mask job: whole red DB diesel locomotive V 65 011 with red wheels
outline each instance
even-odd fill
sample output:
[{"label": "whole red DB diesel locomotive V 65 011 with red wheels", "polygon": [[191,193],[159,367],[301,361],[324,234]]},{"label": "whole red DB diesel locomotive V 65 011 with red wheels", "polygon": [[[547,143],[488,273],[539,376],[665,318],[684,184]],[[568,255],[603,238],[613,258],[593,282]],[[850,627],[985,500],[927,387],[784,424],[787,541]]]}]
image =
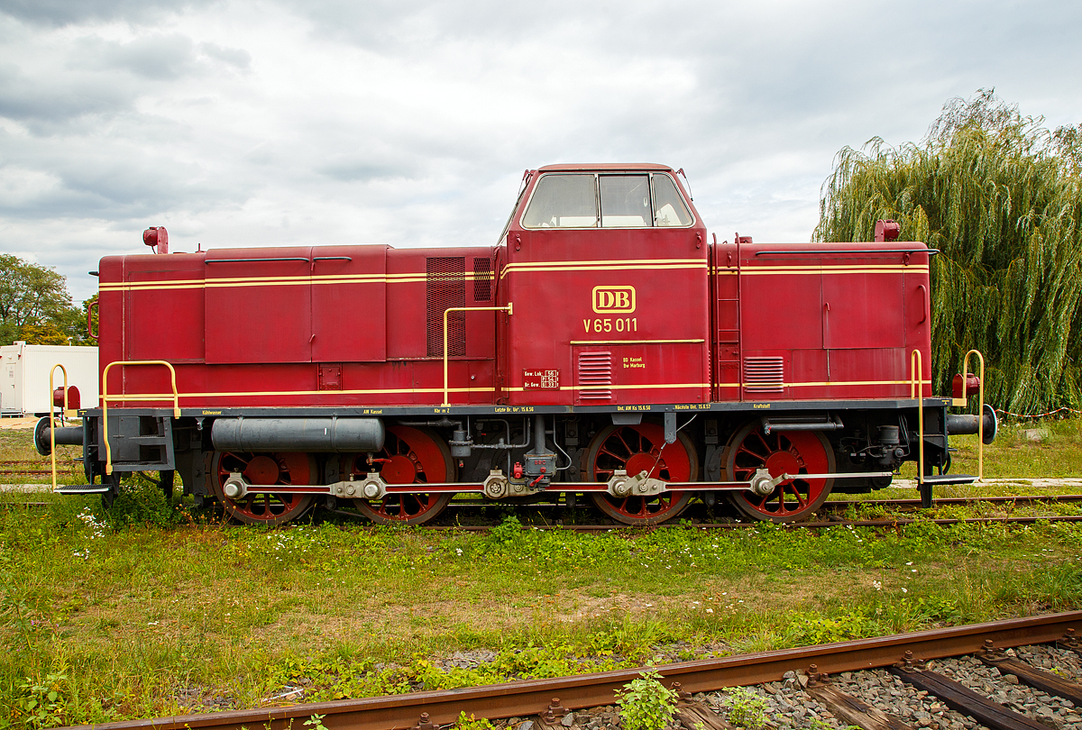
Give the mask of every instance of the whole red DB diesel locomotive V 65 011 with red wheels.
[{"label": "whole red DB diesel locomotive V 65 011 with red wheels", "polygon": [[981,424],[932,397],[934,251],[880,228],[720,243],[659,164],[527,171],[496,245],[170,254],[151,228],[155,254],[101,262],[102,400],[57,432],[89,485],[61,491],[157,470],[255,523],[317,500],[421,523],[470,493],[789,521],[923,452],[929,499],[973,479],[948,435]]}]

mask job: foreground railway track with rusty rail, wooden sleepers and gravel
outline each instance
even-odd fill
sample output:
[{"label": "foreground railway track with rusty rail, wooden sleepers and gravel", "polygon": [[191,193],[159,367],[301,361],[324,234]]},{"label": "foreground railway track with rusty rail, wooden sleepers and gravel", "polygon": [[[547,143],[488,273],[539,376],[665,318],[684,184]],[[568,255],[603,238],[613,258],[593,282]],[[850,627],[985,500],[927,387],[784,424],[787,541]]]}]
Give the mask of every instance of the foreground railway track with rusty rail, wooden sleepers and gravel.
[{"label": "foreground railway track with rusty rail, wooden sleepers and gravel", "polygon": [[[657,669],[662,683],[679,692],[677,717],[687,730],[727,727],[715,712],[724,705],[722,695],[710,693],[749,686],[760,696],[776,698],[774,706],[782,712],[799,717],[808,713],[817,717],[830,713],[841,727],[857,725],[867,730],[902,730],[979,724],[993,730],[1048,730],[1050,726],[1066,729],[1082,727],[1082,715],[1076,707],[1082,706],[1082,686],[1078,683],[1078,675],[1082,674],[1079,636],[1082,636],[1082,612],[1077,611],[683,662]],[[1034,645],[1042,646],[1013,651]],[[1074,672],[1060,669],[1054,674],[1034,665],[1040,662],[1032,658],[1050,654],[1073,666]],[[1067,656],[1073,660],[1068,662]],[[982,665],[991,668],[978,671]],[[604,726],[606,714],[611,724],[615,692],[638,673],[638,669],[620,669],[449,691],[161,717],[94,727],[96,730],[260,727],[288,730],[293,722],[318,715],[328,730],[434,730],[465,713],[490,720],[530,719],[539,730],[588,730]],[[1015,680],[1001,680],[1005,675]],[[896,715],[913,725],[897,716],[890,717],[876,706],[884,704],[874,699],[876,687],[885,689],[889,698],[887,708],[895,708]],[[1053,695],[1061,699],[1053,700]],[[914,711],[914,706],[924,709]],[[590,709],[596,707],[604,709],[601,713]],[[1054,709],[1050,715],[1047,709],[1041,708]],[[1043,725],[1038,718],[1048,724]]]}]

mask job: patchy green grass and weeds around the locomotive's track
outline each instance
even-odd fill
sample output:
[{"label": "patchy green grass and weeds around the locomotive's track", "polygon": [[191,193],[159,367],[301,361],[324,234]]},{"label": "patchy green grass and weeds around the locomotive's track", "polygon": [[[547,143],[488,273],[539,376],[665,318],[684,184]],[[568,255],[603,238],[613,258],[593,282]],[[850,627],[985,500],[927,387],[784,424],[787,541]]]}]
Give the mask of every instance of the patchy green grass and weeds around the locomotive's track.
[{"label": "patchy green grass and weeds around the locomotive's track", "polygon": [[[1003,439],[1004,451],[1067,469],[1077,456],[1058,452],[1078,450],[1079,428],[1051,428],[1041,443]],[[1076,523],[263,530],[150,488],[109,513],[92,497],[38,499],[0,508],[0,727],[452,688],[1082,607]]]}]

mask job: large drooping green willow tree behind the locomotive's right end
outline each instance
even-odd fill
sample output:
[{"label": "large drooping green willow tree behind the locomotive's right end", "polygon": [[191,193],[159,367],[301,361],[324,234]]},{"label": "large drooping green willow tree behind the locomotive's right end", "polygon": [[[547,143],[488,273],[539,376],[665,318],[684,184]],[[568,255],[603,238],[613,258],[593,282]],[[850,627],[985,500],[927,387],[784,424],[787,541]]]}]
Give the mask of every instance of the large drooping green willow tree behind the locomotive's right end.
[{"label": "large drooping green willow tree behind the locomotive's right end", "polygon": [[901,240],[938,249],[934,387],[977,348],[986,399],[1017,413],[1082,406],[1082,125],[1043,122],[981,90],[948,102],[919,144],[846,147],[815,231],[867,241],[893,218]]}]

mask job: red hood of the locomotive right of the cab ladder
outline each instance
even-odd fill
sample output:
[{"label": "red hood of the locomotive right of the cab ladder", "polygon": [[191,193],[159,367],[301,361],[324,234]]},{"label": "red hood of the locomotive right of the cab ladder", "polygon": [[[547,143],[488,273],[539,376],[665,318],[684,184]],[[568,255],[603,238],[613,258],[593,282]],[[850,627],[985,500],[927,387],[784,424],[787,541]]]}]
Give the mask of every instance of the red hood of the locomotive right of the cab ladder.
[{"label": "red hood of the locomotive right of the cab ladder", "polygon": [[[814,247],[822,254],[808,244],[739,248],[745,399],[908,398],[914,348],[931,379],[928,254],[898,252],[923,243]],[[717,277],[734,278],[731,268]],[[749,388],[749,373],[771,359],[781,364],[780,388]]]}]

